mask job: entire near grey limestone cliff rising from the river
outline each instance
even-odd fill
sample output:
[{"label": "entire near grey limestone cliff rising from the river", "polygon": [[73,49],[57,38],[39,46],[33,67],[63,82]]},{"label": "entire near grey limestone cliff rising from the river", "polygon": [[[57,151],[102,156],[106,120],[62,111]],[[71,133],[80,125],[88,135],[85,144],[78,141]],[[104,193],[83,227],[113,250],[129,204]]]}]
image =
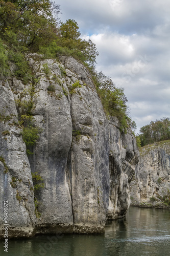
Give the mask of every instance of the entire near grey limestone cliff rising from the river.
[{"label": "entire near grey limestone cliff rising from the river", "polygon": [[[34,84],[16,78],[0,84],[1,205],[8,200],[9,237],[104,232],[106,219],[124,217],[130,205],[135,138],[106,117],[90,73],[77,60],[28,58]],[[18,116],[30,104],[40,137],[27,156]],[[31,172],[44,188],[32,189]],[[0,218],[3,237],[3,211]]]}]

